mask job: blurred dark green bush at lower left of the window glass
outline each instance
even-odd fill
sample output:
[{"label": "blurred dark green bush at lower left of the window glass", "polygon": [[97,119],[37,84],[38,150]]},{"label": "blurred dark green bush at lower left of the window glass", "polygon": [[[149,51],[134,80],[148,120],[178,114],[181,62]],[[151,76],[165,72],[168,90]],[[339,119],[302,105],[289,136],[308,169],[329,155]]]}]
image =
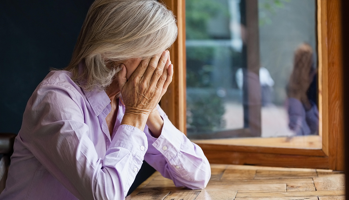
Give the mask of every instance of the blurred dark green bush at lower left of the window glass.
[{"label": "blurred dark green bush at lower left of the window glass", "polygon": [[221,127],[225,112],[222,99],[215,94],[187,98],[188,132],[205,134]]}]

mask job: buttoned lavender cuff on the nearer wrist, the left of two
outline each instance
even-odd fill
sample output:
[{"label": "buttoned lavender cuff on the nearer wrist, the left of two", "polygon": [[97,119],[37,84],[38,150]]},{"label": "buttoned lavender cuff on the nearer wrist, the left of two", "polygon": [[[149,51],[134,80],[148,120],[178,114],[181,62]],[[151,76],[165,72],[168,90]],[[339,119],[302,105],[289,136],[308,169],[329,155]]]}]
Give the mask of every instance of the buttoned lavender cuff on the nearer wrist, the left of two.
[{"label": "buttoned lavender cuff on the nearer wrist, the left of two", "polygon": [[140,129],[130,125],[120,125],[109,148],[121,147],[144,160],[148,149],[147,136]]}]

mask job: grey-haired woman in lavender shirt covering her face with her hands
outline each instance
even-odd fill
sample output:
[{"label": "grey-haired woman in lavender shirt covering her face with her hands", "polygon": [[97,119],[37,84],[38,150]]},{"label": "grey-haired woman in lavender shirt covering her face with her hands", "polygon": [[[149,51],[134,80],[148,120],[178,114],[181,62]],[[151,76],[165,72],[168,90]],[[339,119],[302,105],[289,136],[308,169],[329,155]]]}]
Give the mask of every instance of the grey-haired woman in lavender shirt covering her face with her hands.
[{"label": "grey-haired woman in lavender shirt covering her face with her hands", "polygon": [[124,199],[143,160],[202,189],[202,150],[157,105],[172,80],[171,11],[155,0],[96,0],[65,71],[30,97],[0,199]]}]

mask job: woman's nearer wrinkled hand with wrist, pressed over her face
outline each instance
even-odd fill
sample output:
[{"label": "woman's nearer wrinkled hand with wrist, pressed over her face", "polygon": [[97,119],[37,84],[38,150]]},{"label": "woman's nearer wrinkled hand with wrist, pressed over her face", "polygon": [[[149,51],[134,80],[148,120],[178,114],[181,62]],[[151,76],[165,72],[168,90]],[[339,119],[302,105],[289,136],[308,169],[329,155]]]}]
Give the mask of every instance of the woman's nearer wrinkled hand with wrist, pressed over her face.
[{"label": "woman's nearer wrinkled hand with wrist, pressed over her face", "polygon": [[121,124],[132,125],[143,130],[149,114],[156,109],[159,99],[171,82],[172,74],[169,51],[142,60],[129,80],[126,79],[126,67],[123,65],[117,75],[126,107]]}]

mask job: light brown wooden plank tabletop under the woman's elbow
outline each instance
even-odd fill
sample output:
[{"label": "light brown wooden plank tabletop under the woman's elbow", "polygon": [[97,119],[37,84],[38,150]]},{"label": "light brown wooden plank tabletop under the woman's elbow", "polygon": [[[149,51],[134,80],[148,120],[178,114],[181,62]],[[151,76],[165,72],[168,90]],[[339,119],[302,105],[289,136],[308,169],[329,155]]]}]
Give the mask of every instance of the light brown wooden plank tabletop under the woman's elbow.
[{"label": "light brown wooden plank tabletop under the woman's elbow", "polygon": [[211,164],[203,190],[175,187],[158,172],[127,200],[344,200],[344,174],[321,169]]}]

